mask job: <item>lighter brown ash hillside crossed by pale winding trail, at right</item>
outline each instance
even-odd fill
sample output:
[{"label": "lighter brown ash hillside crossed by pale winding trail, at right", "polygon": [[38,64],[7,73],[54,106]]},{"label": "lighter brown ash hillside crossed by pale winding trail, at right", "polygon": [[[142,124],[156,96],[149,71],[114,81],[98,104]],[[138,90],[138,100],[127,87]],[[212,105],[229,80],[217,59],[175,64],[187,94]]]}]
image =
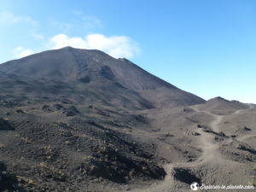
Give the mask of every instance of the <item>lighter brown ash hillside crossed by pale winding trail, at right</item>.
[{"label": "lighter brown ash hillside crossed by pale winding trail, at right", "polygon": [[191,191],[193,182],[255,190],[255,105],[217,97],[200,105],[150,111],[142,114],[154,119],[155,132],[142,135],[155,139],[156,155],[166,160],[167,175],[162,182],[131,191]]}]

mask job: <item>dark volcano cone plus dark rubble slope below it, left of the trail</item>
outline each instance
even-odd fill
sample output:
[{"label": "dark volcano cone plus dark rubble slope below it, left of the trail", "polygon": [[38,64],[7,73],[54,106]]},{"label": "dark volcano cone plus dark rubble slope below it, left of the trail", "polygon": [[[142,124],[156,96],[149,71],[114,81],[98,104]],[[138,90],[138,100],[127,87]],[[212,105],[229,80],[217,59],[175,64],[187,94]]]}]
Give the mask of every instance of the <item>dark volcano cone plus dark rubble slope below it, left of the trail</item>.
[{"label": "dark volcano cone plus dark rubble slope below it, left of the trail", "polygon": [[203,102],[99,50],[67,47],[6,62],[0,191],[120,191],[162,179],[157,138],[138,137],[153,129],[140,113]]}]

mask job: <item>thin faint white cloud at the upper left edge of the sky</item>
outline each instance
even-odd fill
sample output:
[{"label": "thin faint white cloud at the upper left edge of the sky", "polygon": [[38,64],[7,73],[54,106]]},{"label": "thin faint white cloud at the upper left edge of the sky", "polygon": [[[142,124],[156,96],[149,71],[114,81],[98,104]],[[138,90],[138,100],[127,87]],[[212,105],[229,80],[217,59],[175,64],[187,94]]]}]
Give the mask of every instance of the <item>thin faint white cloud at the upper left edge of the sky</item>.
[{"label": "thin faint white cloud at the upper left edge of the sky", "polygon": [[0,12],[0,24],[9,25],[9,24],[16,24],[19,22],[26,22],[33,26],[38,24],[36,20],[32,20],[28,16],[17,16],[9,11]]}]

